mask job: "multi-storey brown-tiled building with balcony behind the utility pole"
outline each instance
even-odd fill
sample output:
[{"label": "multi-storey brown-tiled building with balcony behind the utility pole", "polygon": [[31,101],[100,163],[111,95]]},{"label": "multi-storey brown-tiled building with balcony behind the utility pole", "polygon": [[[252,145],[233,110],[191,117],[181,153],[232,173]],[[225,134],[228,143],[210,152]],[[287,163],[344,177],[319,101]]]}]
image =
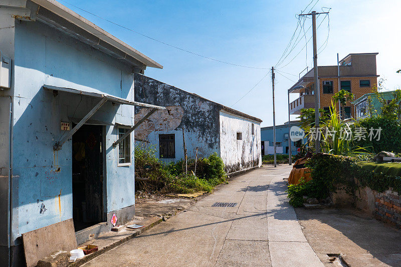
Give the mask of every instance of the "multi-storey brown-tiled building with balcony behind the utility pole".
[{"label": "multi-storey brown-tiled building with balcony behind the utility pole", "polygon": [[[329,110],[332,97],[341,89],[353,93],[354,99],[377,90],[377,54],[350,53],[339,61],[339,66],[318,66],[319,108]],[[289,89],[290,93],[299,93],[299,97],[290,103],[291,114],[299,114],[302,108],[315,107],[314,87],[314,68],[312,68]],[[339,103],[336,103],[336,107],[339,110]],[[355,108],[351,101],[341,106],[341,116],[355,117]]]}]

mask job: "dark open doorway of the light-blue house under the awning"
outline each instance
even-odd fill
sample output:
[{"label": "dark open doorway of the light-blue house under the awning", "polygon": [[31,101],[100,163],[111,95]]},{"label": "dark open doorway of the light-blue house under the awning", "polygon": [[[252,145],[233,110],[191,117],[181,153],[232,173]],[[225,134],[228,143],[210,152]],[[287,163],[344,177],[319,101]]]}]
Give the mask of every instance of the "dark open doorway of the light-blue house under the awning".
[{"label": "dark open doorway of the light-blue house under the awning", "polygon": [[103,126],[82,125],[72,136],[75,230],[103,220]]}]

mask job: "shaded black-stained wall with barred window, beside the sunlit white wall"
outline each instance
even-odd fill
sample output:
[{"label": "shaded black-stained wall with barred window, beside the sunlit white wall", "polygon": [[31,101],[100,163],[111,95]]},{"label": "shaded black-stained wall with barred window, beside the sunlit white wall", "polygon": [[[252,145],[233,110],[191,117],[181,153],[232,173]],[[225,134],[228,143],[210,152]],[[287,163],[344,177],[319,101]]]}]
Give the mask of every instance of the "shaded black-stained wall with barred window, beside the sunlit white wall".
[{"label": "shaded black-stained wall with barred window, beside the sunlit white wall", "polygon": [[[220,153],[220,105],[217,103],[141,74],[135,74],[135,100],[168,106],[169,111],[156,111],[135,129],[136,138],[155,145],[157,156],[159,134],[175,134],[175,158],[164,158],[164,161],[184,158],[182,128],[188,157],[195,157],[196,147],[200,157]],[[135,120],[146,112],[136,107]]]}]

